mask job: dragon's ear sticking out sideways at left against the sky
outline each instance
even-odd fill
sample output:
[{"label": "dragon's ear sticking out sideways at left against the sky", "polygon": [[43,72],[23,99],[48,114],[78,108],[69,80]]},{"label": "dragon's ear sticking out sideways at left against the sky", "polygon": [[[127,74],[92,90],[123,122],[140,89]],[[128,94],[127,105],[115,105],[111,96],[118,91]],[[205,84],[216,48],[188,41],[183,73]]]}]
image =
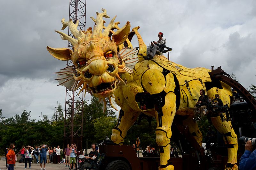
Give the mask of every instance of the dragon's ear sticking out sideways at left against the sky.
[{"label": "dragon's ear sticking out sideways at left against the sky", "polygon": [[46,49],[53,57],[63,61],[70,60],[73,54],[73,51],[69,48],[51,48],[47,46]]}]

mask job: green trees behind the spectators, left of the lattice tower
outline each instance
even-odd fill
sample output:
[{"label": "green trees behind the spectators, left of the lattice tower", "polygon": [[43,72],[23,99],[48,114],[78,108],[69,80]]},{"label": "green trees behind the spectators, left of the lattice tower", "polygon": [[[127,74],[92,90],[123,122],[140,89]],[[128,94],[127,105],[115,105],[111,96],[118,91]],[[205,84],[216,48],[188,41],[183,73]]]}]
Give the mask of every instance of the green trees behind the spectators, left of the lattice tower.
[{"label": "green trees behind the spectators, left of the lattice tower", "polygon": [[[0,148],[7,147],[10,143],[15,143],[16,151],[22,145],[48,144],[57,146],[63,143],[63,122],[49,124],[47,116],[44,115],[44,122],[34,122],[30,120],[30,113],[23,111],[21,116],[16,114],[0,123]],[[0,149],[0,153],[3,149]]]}]

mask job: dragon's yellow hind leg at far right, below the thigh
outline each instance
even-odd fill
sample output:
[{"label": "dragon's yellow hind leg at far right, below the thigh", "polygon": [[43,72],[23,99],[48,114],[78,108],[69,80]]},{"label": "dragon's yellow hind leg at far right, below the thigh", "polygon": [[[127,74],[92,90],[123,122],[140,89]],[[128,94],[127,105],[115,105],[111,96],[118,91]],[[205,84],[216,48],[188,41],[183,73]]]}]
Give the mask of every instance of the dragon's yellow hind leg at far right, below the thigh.
[{"label": "dragon's yellow hind leg at far right, below the thigh", "polygon": [[231,122],[222,122],[220,116],[212,117],[213,126],[223,134],[225,144],[228,146],[228,162],[226,170],[237,170],[236,153],[238,149],[237,136],[232,128]]}]

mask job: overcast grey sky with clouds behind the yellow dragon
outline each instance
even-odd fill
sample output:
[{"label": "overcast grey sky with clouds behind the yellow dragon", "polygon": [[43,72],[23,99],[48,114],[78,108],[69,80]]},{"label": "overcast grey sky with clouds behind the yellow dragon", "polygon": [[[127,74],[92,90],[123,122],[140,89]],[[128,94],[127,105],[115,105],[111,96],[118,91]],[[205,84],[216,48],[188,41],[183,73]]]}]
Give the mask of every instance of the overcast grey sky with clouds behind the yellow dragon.
[{"label": "overcast grey sky with clouds behind the yellow dragon", "polygon": [[[221,68],[236,74],[248,88],[256,84],[256,1],[254,0],[87,0],[86,27],[90,17],[107,10],[109,19],[122,27],[130,21],[146,44],[164,33],[173,62],[186,67]],[[67,47],[54,30],[61,18],[68,20],[68,0],[0,1],[0,108],[11,117],[24,109],[32,118],[51,118],[57,101],[65,103],[65,88],[57,86],[53,72],[66,62],[53,58],[46,46]],[[67,33],[67,30],[63,32]],[[136,46],[137,44],[135,44]],[[90,98],[86,94],[86,98]]]}]

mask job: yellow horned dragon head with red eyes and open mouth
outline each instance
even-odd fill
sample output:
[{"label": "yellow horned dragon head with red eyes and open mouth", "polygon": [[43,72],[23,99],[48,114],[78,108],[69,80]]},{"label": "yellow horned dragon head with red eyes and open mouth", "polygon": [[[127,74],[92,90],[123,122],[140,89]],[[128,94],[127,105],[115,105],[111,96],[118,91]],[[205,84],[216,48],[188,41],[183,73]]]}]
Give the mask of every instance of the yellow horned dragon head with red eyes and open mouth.
[{"label": "yellow horned dragon head with red eyes and open mouth", "polygon": [[[47,50],[53,57],[64,61],[71,60],[73,63],[73,66],[56,73],[59,76],[56,80],[60,85],[66,86],[69,90],[82,87],[80,92],[86,90],[100,100],[103,99],[105,105],[105,98],[108,98],[111,106],[116,109],[111,98],[114,97],[113,92],[117,84],[122,81],[119,75],[132,73],[132,69],[125,66],[125,61],[131,59],[133,62],[138,61],[138,50],[132,49],[128,40],[129,21],[124,27],[119,28],[117,26],[119,22],[114,23],[115,16],[105,27],[103,17],[109,18],[109,16],[106,10],[102,9],[102,11],[102,13],[97,12],[96,19],[91,17],[95,22],[93,30],[89,27],[87,31],[78,31],[79,21],[74,24],[71,19],[65,22],[63,18],[61,20],[62,30],[68,26],[76,39],[60,31],[56,32],[63,40],[68,40],[73,45],[73,50],[48,46]],[[114,29],[117,31],[114,32]]]}]

